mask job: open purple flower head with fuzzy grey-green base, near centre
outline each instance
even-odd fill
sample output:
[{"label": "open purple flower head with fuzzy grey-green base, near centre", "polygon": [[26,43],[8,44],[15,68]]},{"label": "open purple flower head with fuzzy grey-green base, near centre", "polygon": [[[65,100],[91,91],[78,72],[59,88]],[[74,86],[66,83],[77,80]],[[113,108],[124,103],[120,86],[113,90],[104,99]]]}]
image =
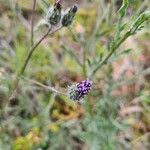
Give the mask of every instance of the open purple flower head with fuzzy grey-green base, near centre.
[{"label": "open purple flower head with fuzzy grey-green base, near centre", "polygon": [[68,88],[68,97],[71,100],[79,101],[84,98],[91,90],[92,82],[90,80],[84,80],[80,83],[71,85]]}]

